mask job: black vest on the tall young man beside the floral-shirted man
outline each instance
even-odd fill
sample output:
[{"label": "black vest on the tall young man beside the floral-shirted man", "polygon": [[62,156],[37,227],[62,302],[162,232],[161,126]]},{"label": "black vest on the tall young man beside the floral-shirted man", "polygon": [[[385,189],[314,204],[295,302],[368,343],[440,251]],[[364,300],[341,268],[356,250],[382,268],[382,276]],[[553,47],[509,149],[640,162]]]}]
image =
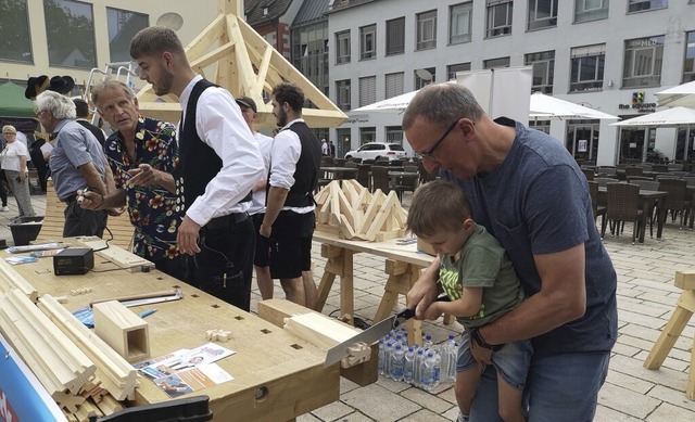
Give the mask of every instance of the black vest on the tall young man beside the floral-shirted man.
[{"label": "black vest on the tall young man beside the floral-shirted man", "polygon": [[[217,85],[201,79],[191,91],[186,104],[186,119],[181,113],[182,127],[178,133],[179,165],[174,170],[177,210],[186,213],[198,196],[205,193],[205,187],[222,169],[222,158],[215,150],[203,142],[195,129],[195,114],[200,95],[210,87]],[[251,192],[240,202],[251,201]],[[180,208],[179,208],[180,207]]]}]

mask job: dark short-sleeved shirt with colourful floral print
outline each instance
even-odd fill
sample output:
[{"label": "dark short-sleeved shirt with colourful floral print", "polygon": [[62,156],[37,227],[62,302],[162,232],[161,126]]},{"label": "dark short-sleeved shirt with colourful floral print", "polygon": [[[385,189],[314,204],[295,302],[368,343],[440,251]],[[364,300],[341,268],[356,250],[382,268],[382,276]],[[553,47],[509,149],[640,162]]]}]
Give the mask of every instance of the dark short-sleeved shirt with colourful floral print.
[{"label": "dark short-sleeved shirt with colourful floral print", "polygon": [[134,253],[150,260],[178,256],[176,230],[181,216],[176,213],[176,195],[159,184],[129,186],[128,170],[140,164],[172,174],[178,166],[176,127],[140,116],[135,132],[135,161],[126,152],[119,131],[104,143],[116,188],[126,194],[130,222],[135,226]]}]

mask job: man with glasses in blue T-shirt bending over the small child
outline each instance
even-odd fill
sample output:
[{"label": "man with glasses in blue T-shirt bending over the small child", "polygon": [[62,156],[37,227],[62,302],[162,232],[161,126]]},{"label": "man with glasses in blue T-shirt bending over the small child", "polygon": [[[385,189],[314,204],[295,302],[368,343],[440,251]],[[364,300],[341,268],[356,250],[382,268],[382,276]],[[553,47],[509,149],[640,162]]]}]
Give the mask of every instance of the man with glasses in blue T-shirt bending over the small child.
[{"label": "man with glasses in blue T-shirt bending over the small child", "polygon": [[[469,90],[430,85],[403,116],[408,142],[432,172],[456,182],[473,219],[506,250],[529,298],[480,329],[473,356],[533,343],[528,419],[591,421],[617,337],[617,276],[593,218],[586,178],[563,144],[508,118],[492,120]],[[437,295],[435,259],[408,292],[422,316]],[[471,421],[498,420],[488,373]]]}]

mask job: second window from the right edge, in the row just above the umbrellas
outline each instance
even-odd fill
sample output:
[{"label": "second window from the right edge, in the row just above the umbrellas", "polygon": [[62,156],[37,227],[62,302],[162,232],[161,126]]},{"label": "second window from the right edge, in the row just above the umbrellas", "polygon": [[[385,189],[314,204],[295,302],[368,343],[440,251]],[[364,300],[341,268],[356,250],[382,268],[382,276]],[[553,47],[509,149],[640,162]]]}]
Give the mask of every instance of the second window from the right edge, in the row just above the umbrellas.
[{"label": "second window from the right edge, in the row just above the umbrellas", "polygon": [[658,87],[661,85],[664,36],[626,41],[622,88]]}]

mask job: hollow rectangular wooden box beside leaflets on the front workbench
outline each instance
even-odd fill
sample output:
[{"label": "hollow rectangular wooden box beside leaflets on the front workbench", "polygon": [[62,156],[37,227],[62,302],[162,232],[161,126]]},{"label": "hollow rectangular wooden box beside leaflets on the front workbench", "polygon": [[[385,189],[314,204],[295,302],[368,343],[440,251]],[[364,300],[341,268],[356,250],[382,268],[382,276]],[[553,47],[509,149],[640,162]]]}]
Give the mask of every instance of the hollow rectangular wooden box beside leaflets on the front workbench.
[{"label": "hollow rectangular wooden box beside leaflets on the front workbench", "polygon": [[129,362],[150,357],[148,323],[117,300],[94,304],[94,332]]}]

